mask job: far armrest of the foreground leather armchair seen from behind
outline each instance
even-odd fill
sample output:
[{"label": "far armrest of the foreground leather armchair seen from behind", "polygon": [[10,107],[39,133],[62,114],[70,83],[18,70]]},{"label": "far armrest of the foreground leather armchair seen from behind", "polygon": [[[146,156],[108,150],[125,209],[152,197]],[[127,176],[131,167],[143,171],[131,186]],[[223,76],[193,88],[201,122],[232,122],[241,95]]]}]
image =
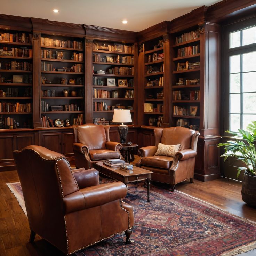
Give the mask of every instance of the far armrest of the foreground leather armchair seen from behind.
[{"label": "far armrest of the foreground leather armchair seen from behind", "polygon": [[72,173],[79,189],[99,185],[99,172],[94,168],[88,170],[85,168],[74,169]]}]

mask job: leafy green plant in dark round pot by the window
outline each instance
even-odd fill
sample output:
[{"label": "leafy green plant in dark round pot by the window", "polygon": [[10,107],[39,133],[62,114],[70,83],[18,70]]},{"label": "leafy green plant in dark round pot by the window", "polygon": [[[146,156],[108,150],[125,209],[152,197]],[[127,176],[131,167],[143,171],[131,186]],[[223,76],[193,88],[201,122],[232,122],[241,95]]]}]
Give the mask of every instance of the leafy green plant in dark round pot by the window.
[{"label": "leafy green plant in dark round pot by the window", "polygon": [[245,170],[242,184],[242,199],[248,205],[256,206],[256,121],[251,122],[247,130],[238,129],[238,133],[227,131],[235,135],[233,141],[219,143],[218,147],[224,146],[225,153],[221,155],[224,161],[228,157],[236,157],[245,163],[238,168],[237,177]]}]

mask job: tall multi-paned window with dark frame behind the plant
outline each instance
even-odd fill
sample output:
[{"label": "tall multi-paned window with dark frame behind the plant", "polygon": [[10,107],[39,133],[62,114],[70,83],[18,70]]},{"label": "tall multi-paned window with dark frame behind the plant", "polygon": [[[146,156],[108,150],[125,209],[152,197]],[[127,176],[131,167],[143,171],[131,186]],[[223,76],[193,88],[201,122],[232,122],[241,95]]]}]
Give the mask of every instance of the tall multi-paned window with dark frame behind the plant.
[{"label": "tall multi-paned window with dark frame behind the plant", "polygon": [[245,25],[230,26],[225,37],[229,111],[224,128],[230,131],[245,129],[251,120],[256,121],[256,26]]}]

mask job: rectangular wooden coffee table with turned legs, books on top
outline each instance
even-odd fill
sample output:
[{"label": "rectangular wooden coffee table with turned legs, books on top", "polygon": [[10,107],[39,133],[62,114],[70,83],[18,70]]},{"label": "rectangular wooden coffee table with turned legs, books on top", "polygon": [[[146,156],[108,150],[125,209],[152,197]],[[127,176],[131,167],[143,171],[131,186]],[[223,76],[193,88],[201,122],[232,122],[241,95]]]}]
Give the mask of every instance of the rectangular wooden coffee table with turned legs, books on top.
[{"label": "rectangular wooden coffee table with turned legs, books on top", "polygon": [[94,167],[99,171],[99,173],[116,179],[117,181],[121,181],[125,183],[126,186],[130,182],[147,180],[147,201],[149,202],[149,187],[152,171],[142,169],[137,166],[134,166],[132,171],[126,171],[122,170],[120,167],[111,168],[107,165],[104,165],[103,162],[94,163]]}]

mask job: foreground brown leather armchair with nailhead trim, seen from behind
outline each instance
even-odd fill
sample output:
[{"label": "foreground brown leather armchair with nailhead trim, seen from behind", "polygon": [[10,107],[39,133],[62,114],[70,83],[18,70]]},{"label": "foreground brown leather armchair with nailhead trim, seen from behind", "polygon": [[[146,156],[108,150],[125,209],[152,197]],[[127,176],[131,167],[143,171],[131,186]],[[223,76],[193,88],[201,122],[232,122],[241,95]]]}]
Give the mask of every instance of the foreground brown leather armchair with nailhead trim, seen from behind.
[{"label": "foreground brown leather armchair with nailhead trim, seen from behind", "polygon": [[31,230],[70,255],[125,231],[130,243],[133,206],[122,182],[99,185],[95,169],[71,170],[59,153],[27,146],[13,151]]}]

